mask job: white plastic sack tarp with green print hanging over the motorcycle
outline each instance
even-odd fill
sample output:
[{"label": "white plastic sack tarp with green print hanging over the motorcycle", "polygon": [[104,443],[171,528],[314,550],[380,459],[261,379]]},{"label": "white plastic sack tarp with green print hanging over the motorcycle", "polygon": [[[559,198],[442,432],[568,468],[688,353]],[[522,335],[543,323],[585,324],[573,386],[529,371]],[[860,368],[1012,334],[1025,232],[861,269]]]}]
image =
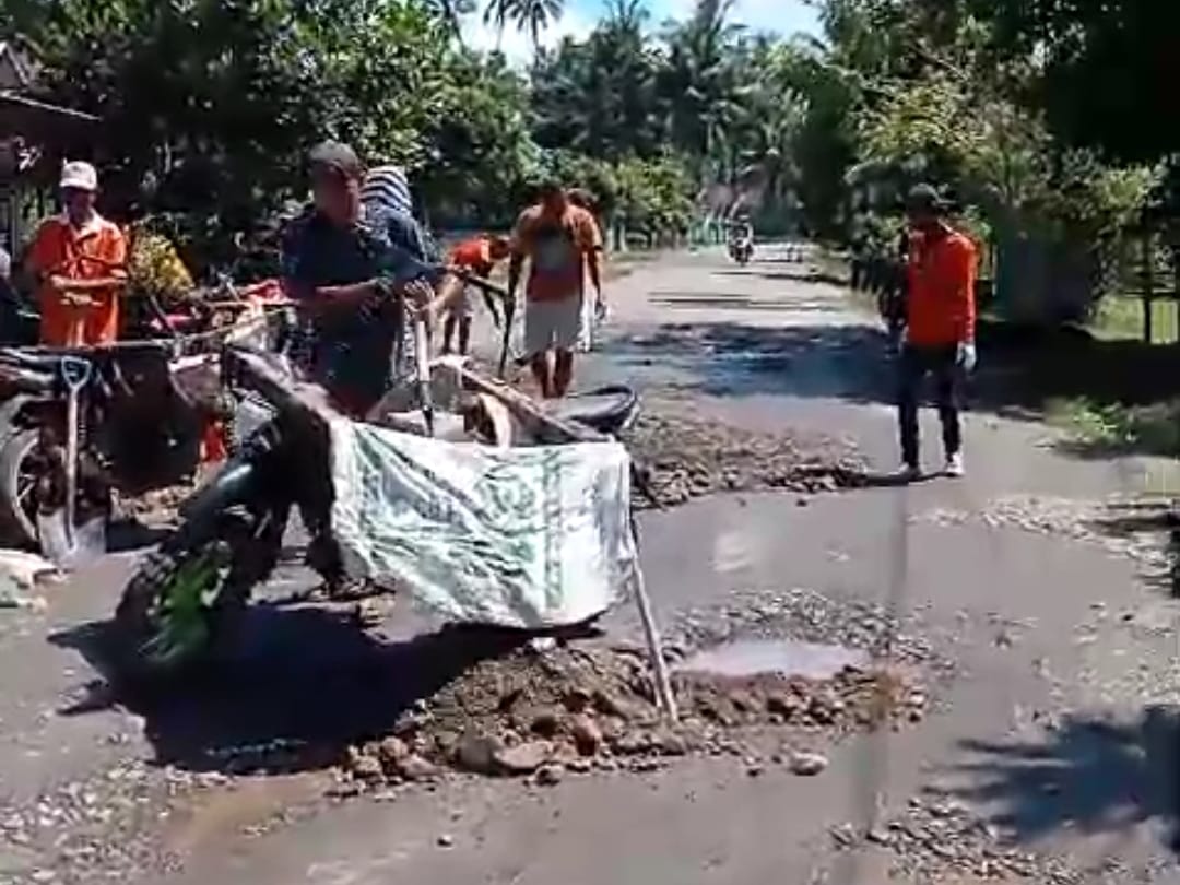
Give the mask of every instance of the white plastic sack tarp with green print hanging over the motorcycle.
[{"label": "white plastic sack tarp with green print hanging over the motorcycle", "polygon": [[638,576],[617,442],[503,450],[330,426],[352,577],[405,585],[451,621],[543,629],[602,614]]}]

